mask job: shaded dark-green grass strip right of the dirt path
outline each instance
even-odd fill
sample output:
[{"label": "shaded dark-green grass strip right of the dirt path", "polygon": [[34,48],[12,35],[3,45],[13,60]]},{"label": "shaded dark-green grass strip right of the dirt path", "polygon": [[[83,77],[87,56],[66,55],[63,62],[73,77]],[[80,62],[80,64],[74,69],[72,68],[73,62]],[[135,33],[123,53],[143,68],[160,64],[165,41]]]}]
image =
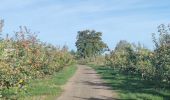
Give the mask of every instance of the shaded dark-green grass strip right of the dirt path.
[{"label": "shaded dark-green grass strip right of the dirt path", "polygon": [[107,84],[119,94],[118,100],[170,100],[170,86],[159,88],[153,81],[137,75],[125,75],[107,66],[92,66]]}]

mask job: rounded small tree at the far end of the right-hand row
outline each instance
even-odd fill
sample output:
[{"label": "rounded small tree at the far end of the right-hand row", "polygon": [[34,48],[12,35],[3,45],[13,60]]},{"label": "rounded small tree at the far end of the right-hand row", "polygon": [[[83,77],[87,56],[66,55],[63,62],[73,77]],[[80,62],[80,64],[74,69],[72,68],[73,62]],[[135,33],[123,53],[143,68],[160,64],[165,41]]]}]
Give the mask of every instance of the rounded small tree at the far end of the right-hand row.
[{"label": "rounded small tree at the far end of the right-hand row", "polygon": [[131,43],[121,40],[111,52],[111,64],[126,73],[135,72],[136,53]]}]

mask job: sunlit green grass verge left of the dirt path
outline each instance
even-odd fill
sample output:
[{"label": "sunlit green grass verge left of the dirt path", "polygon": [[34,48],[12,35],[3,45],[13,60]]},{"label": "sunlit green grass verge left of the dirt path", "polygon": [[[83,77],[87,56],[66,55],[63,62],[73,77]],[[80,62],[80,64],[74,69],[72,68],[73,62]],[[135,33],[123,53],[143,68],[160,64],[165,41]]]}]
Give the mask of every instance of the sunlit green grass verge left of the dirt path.
[{"label": "sunlit green grass verge left of the dirt path", "polygon": [[29,82],[25,91],[15,94],[15,88],[6,90],[10,98],[19,100],[55,100],[62,90],[62,86],[75,73],[76,66],[65,67],[62,71],[44,79],[36,79]]}]

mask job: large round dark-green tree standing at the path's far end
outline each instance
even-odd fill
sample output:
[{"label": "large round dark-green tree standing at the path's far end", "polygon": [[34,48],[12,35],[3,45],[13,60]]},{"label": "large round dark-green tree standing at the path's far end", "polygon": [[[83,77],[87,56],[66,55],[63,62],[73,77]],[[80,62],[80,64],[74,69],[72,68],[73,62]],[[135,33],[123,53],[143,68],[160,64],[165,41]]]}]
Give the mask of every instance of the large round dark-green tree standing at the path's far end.
[{"label": "large round dark-green tree standing at the path's far end", "polygon": [[107,45],[102,41],[102,33],[95,30],[79,31],[76,47],[80,58],[95,57],[102,54]]}]

